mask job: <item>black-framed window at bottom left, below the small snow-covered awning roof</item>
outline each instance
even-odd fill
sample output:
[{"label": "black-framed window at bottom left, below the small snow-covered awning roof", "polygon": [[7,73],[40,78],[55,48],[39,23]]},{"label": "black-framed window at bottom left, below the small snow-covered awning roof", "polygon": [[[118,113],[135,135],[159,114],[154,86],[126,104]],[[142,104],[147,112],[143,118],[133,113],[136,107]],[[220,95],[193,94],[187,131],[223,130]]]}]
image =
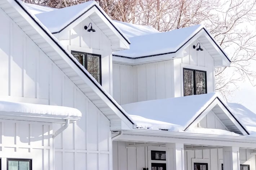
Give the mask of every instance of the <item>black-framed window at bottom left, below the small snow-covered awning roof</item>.
[{"label": "black-framed window at bottom left, below the small snow-covered awning roof", "polygon": [[8,158],[7,170],[32,170],[32,160]]}]

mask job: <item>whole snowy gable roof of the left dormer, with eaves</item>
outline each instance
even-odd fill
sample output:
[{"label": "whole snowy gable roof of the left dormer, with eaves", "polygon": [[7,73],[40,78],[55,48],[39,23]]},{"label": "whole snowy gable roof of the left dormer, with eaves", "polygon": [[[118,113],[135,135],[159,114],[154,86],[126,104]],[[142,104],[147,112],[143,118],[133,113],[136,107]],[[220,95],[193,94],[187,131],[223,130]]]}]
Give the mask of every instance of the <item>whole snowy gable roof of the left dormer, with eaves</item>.
[{"label": "whole snowy gable roof of the left dormer, with eaves", "polygon": [[123,49],[128,49],[129,44],[131,43],[124,33],[115,26],[115,23],[102,10],[96,1],[88,1],[66,8],[39,13],[36,14],[36,17],[49,29],[50,32],[52,32],[52,34],[57,34],[65,29],[75,27],[82,20],[89,17],[92,19],[92,22],[96,24],[107,37],[109,37],[112,43],[121,40],[125,44]]}]

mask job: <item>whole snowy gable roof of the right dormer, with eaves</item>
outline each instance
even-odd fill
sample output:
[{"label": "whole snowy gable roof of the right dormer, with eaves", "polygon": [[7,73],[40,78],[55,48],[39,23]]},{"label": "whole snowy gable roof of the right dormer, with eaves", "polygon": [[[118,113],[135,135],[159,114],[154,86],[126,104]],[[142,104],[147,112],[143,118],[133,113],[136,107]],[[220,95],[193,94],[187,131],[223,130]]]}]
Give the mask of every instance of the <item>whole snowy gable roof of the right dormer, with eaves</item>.
[{"label": "whole snowy gable roof of the right dormer, with eaves", "polygon": [[151,60],[155,62],[182,58],[183,55],[178,55],[178,52],[181,52],[197,39],[201,42],[200,45],[213,57],[215,66],[228,66],[230,64],[230,59],[226,53],[202,25],[131,37],[130,49],[113,52],[113,60],[123,61],[123,64],[138,65]]}]

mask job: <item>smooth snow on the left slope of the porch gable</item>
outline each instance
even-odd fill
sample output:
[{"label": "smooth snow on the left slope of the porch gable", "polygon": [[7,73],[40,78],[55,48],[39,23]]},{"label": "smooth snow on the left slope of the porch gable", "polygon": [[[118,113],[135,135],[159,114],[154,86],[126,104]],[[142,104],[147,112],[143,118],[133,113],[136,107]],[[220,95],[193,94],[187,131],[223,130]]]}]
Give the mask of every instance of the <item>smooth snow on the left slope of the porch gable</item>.
[{"label": "smooth snow on the left slope of the porch gable", "polygon": [[142,101],[121,106],[128,114],[187,127],[216,97],[216,93],[208,93]]}]

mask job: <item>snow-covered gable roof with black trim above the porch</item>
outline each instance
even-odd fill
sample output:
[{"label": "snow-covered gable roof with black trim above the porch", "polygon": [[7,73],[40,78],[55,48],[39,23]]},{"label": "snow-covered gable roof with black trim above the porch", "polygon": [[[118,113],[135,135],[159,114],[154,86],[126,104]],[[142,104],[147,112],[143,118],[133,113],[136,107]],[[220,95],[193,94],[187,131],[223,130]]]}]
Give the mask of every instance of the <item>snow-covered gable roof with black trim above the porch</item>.
[{"label": "snow-covered gable roof with black trim above the porch", "polygon": [[122,107],[128,114],[180,125],[185,131],[212,110],[231,132],[249,134],[217,93],[143,101]]}]

